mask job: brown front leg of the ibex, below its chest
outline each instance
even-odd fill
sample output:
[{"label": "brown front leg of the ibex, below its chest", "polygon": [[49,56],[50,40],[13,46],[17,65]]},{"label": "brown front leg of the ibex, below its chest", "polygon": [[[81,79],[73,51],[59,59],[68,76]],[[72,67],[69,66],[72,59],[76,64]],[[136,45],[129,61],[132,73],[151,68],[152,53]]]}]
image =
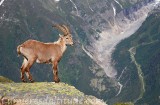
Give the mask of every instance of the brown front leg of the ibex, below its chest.
[{"label": "brown front leg of the ibex, below its chest", "polygon": [[58,78],[58,62],[54,62],[54,63],[53,63],[53,75],[54,75],[53,80],[54,80],[56,83],[59,83],[59,82],[60,82],[60,79]]}]

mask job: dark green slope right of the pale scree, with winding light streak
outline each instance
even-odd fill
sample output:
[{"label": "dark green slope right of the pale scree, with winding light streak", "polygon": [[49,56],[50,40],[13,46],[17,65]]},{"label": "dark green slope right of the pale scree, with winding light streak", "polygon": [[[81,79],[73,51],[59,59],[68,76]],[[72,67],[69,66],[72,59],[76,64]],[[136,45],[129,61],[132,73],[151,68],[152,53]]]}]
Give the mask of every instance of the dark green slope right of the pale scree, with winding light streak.
[{"label": "dark green slope right of the pale scree, with winding light streak", "polygon": [[[118,44],[113,53],[114,60],[118,62],[115,65],[117,70],[122,70],[122,68],[126,67],[122,76],[122,80],[126,81],[126,85],[134,87],[132,83],[127,81],[137,80],[135,87],[139,89],[134,88],[133,91],[140,91],[139,101],[134,100],[138,105],[159,105],[159,10],[155,9],[140,29],[130,38]],[[124,76],[126,73],[130,74],[130,76]],[[138,74],[138,77],[135,78],[136,74]],[[124,87],[122,91],[126,89],[127,87]],[[132,94],[133,91],[127,93]]]}]

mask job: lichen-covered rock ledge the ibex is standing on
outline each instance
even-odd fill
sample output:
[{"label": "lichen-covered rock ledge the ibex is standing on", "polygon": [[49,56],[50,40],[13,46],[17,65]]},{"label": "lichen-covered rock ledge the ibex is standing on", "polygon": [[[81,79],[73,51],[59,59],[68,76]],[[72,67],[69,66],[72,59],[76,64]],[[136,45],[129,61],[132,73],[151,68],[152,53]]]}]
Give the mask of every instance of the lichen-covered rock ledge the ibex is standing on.
[{"label": "lichen-covered rock ledge the ibex is standing on", "polygon": [[[2,105],[106,105],[65,83],[0,83]],[[8,104],[9,103],[9,104]]]}]

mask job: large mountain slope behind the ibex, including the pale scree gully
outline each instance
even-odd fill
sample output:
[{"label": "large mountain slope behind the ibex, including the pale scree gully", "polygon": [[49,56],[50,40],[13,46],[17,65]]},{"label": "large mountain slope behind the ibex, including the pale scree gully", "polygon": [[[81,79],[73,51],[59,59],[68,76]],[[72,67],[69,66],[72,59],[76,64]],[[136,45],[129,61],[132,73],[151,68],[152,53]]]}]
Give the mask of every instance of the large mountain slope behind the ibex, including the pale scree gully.
[{"label": "large mountain slope behind the ibex, including the pale scree gully", "polygon": [[[16,47],[28,39],[56,41],[59,32],[52,24],[68,24],[75,46],[68,47],[59,63],[61,81],[109,104],[135,101],[141,81],[133,70],[137,67],[125,65],[130,53],[124,62],[123,58],[115,62],[111,55],[121,40],[141,26],[155,4],[154,0],[4,0],[0,5],[0,75],[20,82],[22,57],[17,57]],[[31,73],[35,81],[53,78],[49,65],[34,64]]]}]

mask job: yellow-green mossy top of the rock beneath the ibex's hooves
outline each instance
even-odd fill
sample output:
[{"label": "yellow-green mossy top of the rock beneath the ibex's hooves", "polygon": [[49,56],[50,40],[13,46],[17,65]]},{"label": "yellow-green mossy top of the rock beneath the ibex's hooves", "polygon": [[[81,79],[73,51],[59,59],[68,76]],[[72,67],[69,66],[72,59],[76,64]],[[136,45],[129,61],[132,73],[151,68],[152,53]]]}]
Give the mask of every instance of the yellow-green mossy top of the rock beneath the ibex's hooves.
[{"label": "yellow-green mossy top of the rock beneath the ibex's hooves", "polygon": [[65,94],[68,96],[84,96],[84,94],[78,91],[73,86],[69,86],[65,83],[53,83],[53,82],[37,82],[37,83],[2,83],[0,84],[1,92],[8,94],[15,92],[17,94],[32,93],[32,94],[50,94],[58,95]]}]

